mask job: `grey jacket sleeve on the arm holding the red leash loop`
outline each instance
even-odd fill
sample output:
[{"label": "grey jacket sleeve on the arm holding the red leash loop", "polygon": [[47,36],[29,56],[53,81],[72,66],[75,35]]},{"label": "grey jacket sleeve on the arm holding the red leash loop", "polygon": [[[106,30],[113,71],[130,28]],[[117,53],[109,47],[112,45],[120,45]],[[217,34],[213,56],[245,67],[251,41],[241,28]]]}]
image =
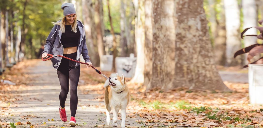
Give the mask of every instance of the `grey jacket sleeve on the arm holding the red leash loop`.
[{"label": "grey jacket sleeve on the arm holding the red leash loop", "polygon": [[55,39],[57,37],[57,25],[54,25],[54,27],[52,28],[52,30],[50,31],[46,43],[44,45],[44,51],[42,53],[50,53],[50,50],[53,49],[53,44],[55,42]]}]

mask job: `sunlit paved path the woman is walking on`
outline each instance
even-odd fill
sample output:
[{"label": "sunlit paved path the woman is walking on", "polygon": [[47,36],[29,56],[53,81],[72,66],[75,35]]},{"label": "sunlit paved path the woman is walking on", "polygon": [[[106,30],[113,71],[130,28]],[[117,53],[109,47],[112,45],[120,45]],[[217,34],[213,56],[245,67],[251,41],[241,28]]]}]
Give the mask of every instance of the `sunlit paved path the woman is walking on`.
[{"label": "sunlit paved path the woman is walking on", "polygon": [[[23,91],[14,92],[14,95],[22,100],[13,103],[13,105],[17,105],[17,107],[11,108],[13,110],[11,114],[14,116],[8,117],[4,122],[30,121],[31,124],[39,125],[39,127],[49,127],[51,125],[55,127],[69,127],[69,122],[64,123],[59,118],[58,107],[61,89],[57,72],[52,68],[50,61],[39,61],[36,66],[28,67],[25,74],[29,78],[29,80],[25,81],[28,86]],[[94,97],[97,95],[84,95],[78,89],[78,108],[76,114],[78,125],[76,127],[90,128],[97,127],[96,125],[103,127],[106,124],[104,102],[94,100]],[[65,103],[68,120],[70,120],[69,99],[70,92]],[[25,119],[22,119],[21,116],[24,116]],[[54,119],[54,121],[48,121],[48,119]],[[126,126],[141,126],[142,124],[137,124],[136,120],[138,119],[127,117]],[[46,122],[45,125],[44,122]],[[111,120],[110,126],[104,127],[112,127],[112,122]],[[118,121],[118,126],[120,126],[120,120]]]}]

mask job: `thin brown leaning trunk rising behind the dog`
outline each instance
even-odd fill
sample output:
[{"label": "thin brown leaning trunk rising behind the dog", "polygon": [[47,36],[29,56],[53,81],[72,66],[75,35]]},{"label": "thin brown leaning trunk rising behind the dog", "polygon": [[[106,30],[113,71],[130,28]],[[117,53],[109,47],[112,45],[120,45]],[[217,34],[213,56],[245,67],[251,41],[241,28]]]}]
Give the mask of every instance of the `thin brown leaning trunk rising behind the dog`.
[{"label": "thin brown leaning trunk rising behind the dog", "polygon": [[113,37],[113,62],[112,62],[112,72],[116,72],[116,68],[115,68],[115,58],[117,57],[117,43],[116,43],[116,38],[115,38],[115,34],[114,34],[114,29],[113,29],[113,25],[112,25],[112,17],[110,16],[110,2],[109,0],[107,0],[107,6],[108,6],[108,13],[109,13],[109,21],[110,21],[110,33],[112,34]]}]

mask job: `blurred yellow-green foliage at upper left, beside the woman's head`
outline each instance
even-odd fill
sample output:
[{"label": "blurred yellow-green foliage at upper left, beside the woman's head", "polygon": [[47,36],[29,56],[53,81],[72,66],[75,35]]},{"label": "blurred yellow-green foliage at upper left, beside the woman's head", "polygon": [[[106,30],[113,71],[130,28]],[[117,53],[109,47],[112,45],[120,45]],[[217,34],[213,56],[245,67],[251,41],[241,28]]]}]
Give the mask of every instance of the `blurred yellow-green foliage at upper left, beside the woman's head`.
[{"label": "blurred yellow-green foliage at upper left, beside the woman's head", "polygon": [[[39,48],[45,44],[45,40],[52,29],[51,22],[59,20],[63,16],[59,0],[0,0],[2,18],[8,11],[9,25],[12,24],[14,35],[25,28],[25,56],[36,58]],[[12,16],[13,15],[13,16]],[[12,53],[13,54],[13,53]]]}]

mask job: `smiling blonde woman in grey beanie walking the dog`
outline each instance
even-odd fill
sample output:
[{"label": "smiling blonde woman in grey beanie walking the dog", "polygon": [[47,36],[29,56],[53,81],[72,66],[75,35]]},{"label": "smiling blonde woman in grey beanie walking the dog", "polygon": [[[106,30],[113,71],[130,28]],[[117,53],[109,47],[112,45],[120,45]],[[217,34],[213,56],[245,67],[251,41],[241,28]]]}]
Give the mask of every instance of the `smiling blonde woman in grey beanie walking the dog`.
[{"label": "smiling blonde woman in grey beanie walking the dog", "polygon": [[[64,17],[62,20],[54,23],[54,27],[48,35],[42,57],[48,58],[47,54],[63,55],[65,57],[80,60],[82,54],[87,68],[92,66],[89,60],[88,49],[86,46],[86,37],[83,24],[77,21],[77,15],[72,3],[64,3],[63,9]],[[61,92],[59,94],[59,115],[63,122],[67,122],[67,115],[65,111],[65,101],[69,91],[70,81],[70,122],[72,127],[76,126],[75,114],[78,105],[77,87],[80,75],[80,64],[71,60],[54,57],[50,59],[53,67],[57,70]]]}]

